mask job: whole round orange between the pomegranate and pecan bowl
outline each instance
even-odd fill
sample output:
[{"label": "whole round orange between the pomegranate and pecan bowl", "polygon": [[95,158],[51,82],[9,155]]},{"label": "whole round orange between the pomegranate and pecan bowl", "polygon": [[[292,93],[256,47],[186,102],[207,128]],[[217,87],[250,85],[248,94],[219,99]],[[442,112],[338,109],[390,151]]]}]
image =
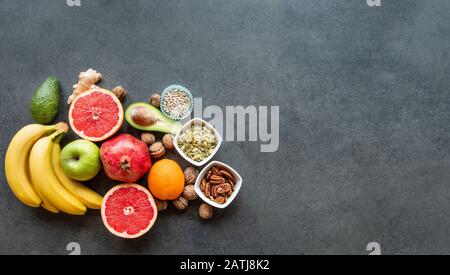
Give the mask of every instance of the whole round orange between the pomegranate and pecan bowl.
[{"label": "whole round orange between the pomegranate and pecan bowl", "polygon": [[173,160],[156,162],[148,175],[148,188],[160,200],[175,200],[184,189],[184,174]]}]

